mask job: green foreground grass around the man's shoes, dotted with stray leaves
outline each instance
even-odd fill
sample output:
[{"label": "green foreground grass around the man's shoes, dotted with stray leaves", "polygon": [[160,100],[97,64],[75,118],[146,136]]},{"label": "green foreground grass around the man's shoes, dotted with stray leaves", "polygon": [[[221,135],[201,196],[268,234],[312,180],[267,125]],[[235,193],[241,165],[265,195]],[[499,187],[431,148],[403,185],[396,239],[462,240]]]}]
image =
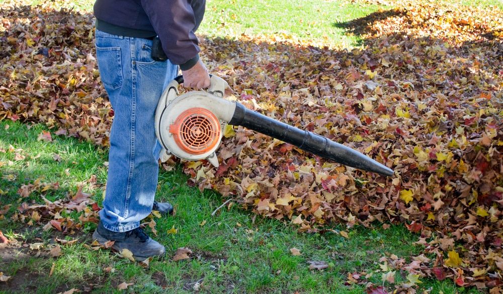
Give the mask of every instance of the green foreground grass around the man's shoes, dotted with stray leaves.
[{"label": "green foreground grass around the man's shoes, dotted with stray leaves", "polygon": [[[38,135],[46,130],[40,125],[3,121],[0,130],[3,130],[0,148],[6,150],[0,152],[3,164],[0,187],[4,191],[0,195],[0,207],[14,205],[5,219],[0,220],[2,231],[20,244],[44,242],[47,245],[53,243],[55,237],[64,238],[54,231],[43,232],[42,225],[27,226],[13,222],[10,217],[23,201],[43,203],[42,195],[51,200],[67,197],[67,193],[75,191],[78,184],[86,183],[93,174],[97,176],[97,183],[86,184],[84,191],[92,192],[92,197],[100,202],[106,181],[107,150],[54,135],[53,142],[37,141]],[[9,152],[11,145],[17,151]],[[25,159],[15,160],[16,153]],[[61,160],[55,161],[54,154]],[[58,181],[60,188],[19,199],[18,188],[37,178],[45,182]],[[409,256],[422,249],[413,245],[418,236],[399,225],[387,230],[379,224],[374,228],[355,227],[348,230],[349,238],[344,238],[334,233],[300,234],[290,224],[262,217],[255,219],[254,214],[237,205],[230,210],[224,208],[212,217],[211,213],[221,204],[218,193],[200,192],[186,185],[186,181],[187,177],[179,169],[160,173],[157,200],[174,204],[177,214],[155,219],[156,240],[166,246],[167,256],[152,260],[148,269],[113,252],[86,248],[84,244],[92,242],[93,225],[76,236],[66,236],[78,237],[80,241],[62,246],[63,254],[58,258],[36,257],[34,252],[21,247],[18,258],[0,259],[0,270],[13,276],[9,283],[0,284],[0,292],[55,293],[74,287],[109,293],[118,292],[117,285],[125,281],[133,283],[128,291],[134,293],[189,293],[194,292],[194,285],[199,281],[200,290],[205,293],[362,293],[364,286],[345,284],[348,273],[366,272],[371,275],[370,281],[380,284],[381,257],[395,254],[409,260]],[[75,219],[78,218],[75,216]],[[167,234],[173,226],[178,232]],[[334,225],[333,229],[346,228]],[[171,261],[179,247],[190,248],[193,258]],[[300,249],[302,255],[292,255],[290,248],[294,247]],[[325,261],[330,266],[322,271],[309,270],[308,261]],[[53,272],[49,276],[51,267]],[[397,273],[396,280],[405,281],[405,274]],[[452,281],[422,280],[421,289],[432,287],[433,292],[477,293],[473,289],[456,288]]]}]

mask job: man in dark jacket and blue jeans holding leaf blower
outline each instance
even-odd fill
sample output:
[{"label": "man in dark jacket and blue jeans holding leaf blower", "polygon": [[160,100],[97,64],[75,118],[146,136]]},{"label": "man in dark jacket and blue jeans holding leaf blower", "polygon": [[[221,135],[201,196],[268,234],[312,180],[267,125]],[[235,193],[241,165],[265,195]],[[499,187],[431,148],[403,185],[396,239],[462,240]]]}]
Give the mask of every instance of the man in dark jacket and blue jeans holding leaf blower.
[{"label": "man in dark jacket and blue jeans holding leaf blower", "polygon": [[[165,252],[139,228],[140,221],[152,207],[164,214],[173,211],[169,203],[154,203],[159,97],[179,66],[184,86],[210,85],[194,34],[204,10],[205,0],[97,0],[94,6],[98,67],[115,116],[106,196],[93,238],[101,244],[113,240],[115,250],[128,249],[139,261]],[[152,59],[155,36],[166,61]]]}]

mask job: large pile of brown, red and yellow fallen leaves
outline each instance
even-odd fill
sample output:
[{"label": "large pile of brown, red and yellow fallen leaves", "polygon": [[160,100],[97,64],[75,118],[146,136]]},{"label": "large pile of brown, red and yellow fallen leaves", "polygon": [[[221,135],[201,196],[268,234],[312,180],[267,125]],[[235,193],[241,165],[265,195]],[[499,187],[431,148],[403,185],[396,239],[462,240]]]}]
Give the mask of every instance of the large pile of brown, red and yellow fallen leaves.
[{"label": "large pile of brown, red and yellow fallen leaves", "polygon": [[[55,134],[107,145],[113,111],[93,57],[92,16],[53,6],[2,4],[0,119],[42,122]],[[285,35],[203,39],[211,71],[246,107],[358,149],[395,176],[227,126],[220,167],[183,162],[190,183],[302,231],[332,222],[404,223],[421,234],[428,257],[389,257],[385,265],[407,271],[409,284],[428,275],[499,291],[501,15],[497,8],[398,4],[343,24],[365,41],[353,50]]]}]

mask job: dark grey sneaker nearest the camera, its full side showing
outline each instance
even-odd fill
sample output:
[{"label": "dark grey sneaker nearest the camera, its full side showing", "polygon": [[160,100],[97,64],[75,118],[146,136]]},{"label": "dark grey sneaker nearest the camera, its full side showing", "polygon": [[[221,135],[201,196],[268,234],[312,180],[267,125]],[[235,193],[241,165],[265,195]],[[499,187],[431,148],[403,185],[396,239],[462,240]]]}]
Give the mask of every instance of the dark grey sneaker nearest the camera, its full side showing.
[{"label": "dark grey sneaker nearest the camera, its full side showing", "polygon": [[115,241],[112,249],[118,252],[128,249],[133,253],[136,261],[143,261],[152,256],[162,256],[166,252],[164,246],[148,237],[141,228],[118,233],[105,229],[100,222],[98,228],[93,233],[93,239],[96,239],[102,246],[105,246],[105,242],[107,241]]}]

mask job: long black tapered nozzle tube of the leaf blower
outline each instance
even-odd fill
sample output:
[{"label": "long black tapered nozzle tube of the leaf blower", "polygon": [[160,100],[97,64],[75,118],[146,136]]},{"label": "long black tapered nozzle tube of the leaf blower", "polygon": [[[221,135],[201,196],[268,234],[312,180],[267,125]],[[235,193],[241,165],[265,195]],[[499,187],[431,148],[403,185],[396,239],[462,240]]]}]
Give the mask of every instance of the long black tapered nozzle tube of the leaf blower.
[{"label": "long black tapered nozzle tube of the leaf blower", "polygon": [[333,160],[337,163],[376,172],[381,175],[393,175],[392,169],[354,149],[333,142],[323,136],[276,121],[258,112],[250,111],[239,103],[236,103],[236,110],[229,124],[242,126],[271,136],[283,142],[295,145],[304,151]]}]

